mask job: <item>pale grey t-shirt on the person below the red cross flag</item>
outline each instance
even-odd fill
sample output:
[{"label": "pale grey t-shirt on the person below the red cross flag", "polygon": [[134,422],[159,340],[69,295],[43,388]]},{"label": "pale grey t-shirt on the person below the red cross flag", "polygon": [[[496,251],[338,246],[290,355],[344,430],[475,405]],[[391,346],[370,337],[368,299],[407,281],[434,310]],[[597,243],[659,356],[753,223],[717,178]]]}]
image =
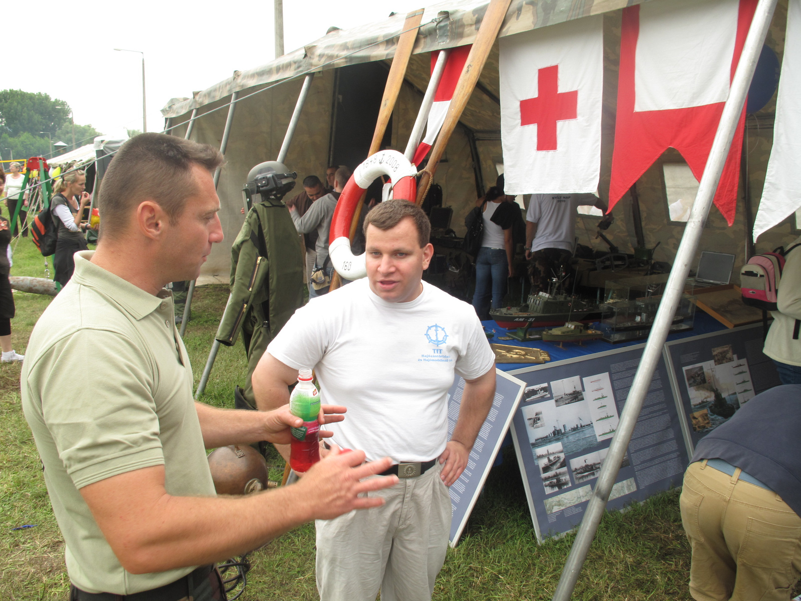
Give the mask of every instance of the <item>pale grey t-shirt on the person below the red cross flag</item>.
[{"label": "pale grey t-shirt on the person below the red cross flag", "polygon": [[576,240],[576,209],[595,204],[591,194],[532,194],[525,220],[537,224],[531,251],[563,248],[573,252]]}]

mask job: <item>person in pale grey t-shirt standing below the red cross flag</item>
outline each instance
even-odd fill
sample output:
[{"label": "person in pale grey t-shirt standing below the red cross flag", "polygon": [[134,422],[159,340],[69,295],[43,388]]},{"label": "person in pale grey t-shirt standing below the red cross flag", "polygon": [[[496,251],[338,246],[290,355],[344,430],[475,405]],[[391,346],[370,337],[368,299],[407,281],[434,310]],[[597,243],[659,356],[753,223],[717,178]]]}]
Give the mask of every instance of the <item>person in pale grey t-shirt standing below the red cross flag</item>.
[{"label": "person in pale grey t-shirt standing below the red cross flag", "polygon": [[[532,194],[525,213],[525,258],[529,263],[531,291],[548,288],[570,260],[576,244],[576,209],[585,205],[606,213],[606,203],[593,194]],[[604,217],[611,220],[611,216]]]}]

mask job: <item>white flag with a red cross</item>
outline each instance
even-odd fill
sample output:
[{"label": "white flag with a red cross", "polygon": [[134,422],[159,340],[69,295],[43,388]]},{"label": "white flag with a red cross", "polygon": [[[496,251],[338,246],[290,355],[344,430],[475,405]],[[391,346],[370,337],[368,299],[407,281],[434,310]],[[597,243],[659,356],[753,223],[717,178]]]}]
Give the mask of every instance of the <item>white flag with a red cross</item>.
[{"label": "white flag with a red cross", "polygon": [[596,192],[601,167],[601,15],[501,38],[506,194]]}]

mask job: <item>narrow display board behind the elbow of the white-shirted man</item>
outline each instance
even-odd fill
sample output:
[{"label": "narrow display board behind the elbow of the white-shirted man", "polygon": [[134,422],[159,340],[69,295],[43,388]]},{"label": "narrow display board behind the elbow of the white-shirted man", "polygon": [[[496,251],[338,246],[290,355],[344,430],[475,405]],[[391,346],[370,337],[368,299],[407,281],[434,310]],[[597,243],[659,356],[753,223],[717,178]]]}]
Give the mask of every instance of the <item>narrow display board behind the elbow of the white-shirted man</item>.
[{"label": "narrow display board behind the elbow of the white-shirted man", "polygon": [[[509,430],[509,423],[517,409],[517,404],[523,395],[525,384],[502,372],[495,370],[495,397],[493,406],[489,409],[489,415],[481,425],[476,442],[473,443],[473,450],[470,451],[467,467],[453,482],[449,489],[451,498],[451,530],[449,541],[451,547],[456,547],[461,536],[461,531],[465,529],[470,512],[478,500],[481,487],[487,479],[490,468],[495,462],[498,450],[501,449],[501,442]],[[457,376],[448,391],[448,438],[453,434],[459,417],[461,407],[461,395],[465,391],[465,378]]]}]

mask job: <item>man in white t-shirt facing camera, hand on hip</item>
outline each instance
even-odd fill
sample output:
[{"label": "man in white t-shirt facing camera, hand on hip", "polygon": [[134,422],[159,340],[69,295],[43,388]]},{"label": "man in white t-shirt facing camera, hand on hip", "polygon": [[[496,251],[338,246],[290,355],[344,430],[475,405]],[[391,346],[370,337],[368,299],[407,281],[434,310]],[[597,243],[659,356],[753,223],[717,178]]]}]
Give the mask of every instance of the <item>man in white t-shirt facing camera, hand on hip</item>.
[{"label": "man in white t-shirt facing camera, hand on hip", "polygon": [[[433,256],[430,228],[406,200],[372,209],[367,278],[298,309],[253,374],[259,409],[270,409],[287,402],[298,369],[313,367],[322,401],[348,408],[331,426],[332,442],[368,459],[388,455],[400,478],[376,510],[316,522],[323,601],[374,601],[379,589],[384,601],[430,599],[448,545],[447,486],[492,406],[495,357],[473,307],[421,279]],[[448,440],[455,374],[466,384]]]}]

